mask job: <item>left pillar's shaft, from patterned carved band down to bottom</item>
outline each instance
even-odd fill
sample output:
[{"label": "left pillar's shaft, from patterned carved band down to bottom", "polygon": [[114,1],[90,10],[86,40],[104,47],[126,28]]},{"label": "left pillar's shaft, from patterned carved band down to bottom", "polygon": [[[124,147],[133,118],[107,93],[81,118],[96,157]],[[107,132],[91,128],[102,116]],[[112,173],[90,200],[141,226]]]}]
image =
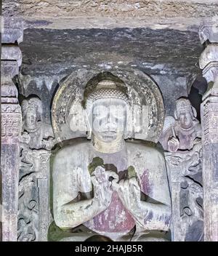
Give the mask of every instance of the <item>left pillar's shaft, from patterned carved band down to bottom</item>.
[{"label": "left pillar's shaft, from patterned carved band down to bottom", "polygon": [[4,223],[2,240],[17,241],[17,202],[19,169],[20,108],[1,104],[1,172]]}]

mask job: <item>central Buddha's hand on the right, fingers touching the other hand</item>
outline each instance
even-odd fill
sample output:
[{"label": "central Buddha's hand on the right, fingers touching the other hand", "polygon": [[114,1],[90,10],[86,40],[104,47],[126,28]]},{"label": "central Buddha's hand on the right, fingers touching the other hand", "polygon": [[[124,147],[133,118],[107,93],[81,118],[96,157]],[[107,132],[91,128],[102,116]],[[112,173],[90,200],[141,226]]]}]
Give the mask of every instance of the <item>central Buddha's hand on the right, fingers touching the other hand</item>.
[{"label": "central Buddha's hand on the right, fingers touching the other hand", "polygon": [[116,187],[118,196],[126,209],[129,209],[130,212],[139,209],[141,189],[136,177],[121,180],[118,184],[113,183],[113,186]]}]

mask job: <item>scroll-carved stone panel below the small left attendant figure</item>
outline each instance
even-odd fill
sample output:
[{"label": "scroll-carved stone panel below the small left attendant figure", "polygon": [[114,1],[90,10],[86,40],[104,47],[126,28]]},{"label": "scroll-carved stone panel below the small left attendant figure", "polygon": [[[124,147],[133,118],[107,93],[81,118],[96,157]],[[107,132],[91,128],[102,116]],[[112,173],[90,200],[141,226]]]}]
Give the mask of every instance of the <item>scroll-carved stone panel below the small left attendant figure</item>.
[{"label": "scroll-carved stone panel below the small left attendant figure", "polygon": [[17,241],[47,241],[51,153],[31,150],[26,143],[20,148]]}]

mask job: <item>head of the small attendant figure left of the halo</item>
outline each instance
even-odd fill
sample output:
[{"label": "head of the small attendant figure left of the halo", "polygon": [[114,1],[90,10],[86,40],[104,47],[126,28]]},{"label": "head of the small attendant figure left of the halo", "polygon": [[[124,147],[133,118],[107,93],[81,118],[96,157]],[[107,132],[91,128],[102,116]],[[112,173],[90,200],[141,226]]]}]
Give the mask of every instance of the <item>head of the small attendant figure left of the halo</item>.
[{"label": "head of the small attendant figure left of the halo", "polygon": [[23,100],[21,108],[23,113],[23,127],[28,132],[31,132],[38,127],[39,121],[41,121],[41,100],[37,97]]}]

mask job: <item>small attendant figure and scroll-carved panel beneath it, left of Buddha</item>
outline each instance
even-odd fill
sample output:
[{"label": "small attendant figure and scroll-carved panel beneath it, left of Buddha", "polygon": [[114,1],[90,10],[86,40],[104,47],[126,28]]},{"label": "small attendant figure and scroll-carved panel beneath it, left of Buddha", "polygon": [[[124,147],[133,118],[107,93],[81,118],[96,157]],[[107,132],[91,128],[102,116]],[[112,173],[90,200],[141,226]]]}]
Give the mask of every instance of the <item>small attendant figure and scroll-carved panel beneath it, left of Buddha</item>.
[{"label": "small attendant figure and scroll-carved panel beneath it, left of Buddha", "polygon": [[[49,225],[49,156],[54,145],[51,127],[41,118],[38,97],[21,104],[18,241],[47,241]],[[40,202],[40,204],[39,204]]]}]

